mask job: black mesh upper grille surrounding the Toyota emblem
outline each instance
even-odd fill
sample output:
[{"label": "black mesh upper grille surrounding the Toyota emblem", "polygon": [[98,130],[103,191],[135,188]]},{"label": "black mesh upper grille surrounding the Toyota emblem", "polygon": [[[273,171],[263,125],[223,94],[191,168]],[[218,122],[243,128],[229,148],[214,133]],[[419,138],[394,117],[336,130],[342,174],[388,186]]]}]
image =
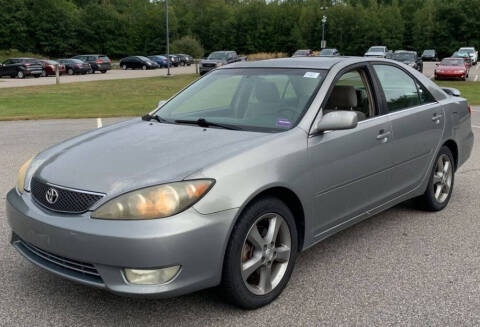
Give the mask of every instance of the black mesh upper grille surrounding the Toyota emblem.
[{"label": "black mesh upper grille surrounding the Toyota emblem", "polygon": [[[46,183],[42,183],[35,178],[31,182],[31,191],[33,198],[43,207],[64,213],[82,213],[90,209],[98,200],[103,197],[103,194],[76,191],[60,186],[53,186]],[[55,189],[58,193],[58,197],[55,203],[49,203],[47,201],[47,191],[49,189]]]}]

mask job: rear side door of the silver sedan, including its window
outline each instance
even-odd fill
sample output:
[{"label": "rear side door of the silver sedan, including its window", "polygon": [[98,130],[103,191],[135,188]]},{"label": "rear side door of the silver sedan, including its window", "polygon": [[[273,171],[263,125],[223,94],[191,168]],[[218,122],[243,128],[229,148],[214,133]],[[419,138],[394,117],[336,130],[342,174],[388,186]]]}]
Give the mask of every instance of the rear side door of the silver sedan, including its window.
[{"label": "rear side door of the silver sedan, including its window", "polygon": [[415,189],[427,174],[442,137],[443,108],[406,70],[388,64],[373,67],[393,126],[389,192],[401,195]]}]

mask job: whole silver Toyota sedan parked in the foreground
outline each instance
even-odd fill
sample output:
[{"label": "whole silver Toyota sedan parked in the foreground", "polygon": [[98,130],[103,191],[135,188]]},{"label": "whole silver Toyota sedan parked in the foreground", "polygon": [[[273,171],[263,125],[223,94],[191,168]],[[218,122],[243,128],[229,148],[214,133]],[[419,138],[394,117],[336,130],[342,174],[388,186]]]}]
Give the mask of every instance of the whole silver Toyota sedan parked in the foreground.
[{"label": "whole silver Toyota sedan parked in the foreground", "polygon": [[11,243],[114,293],[221,285],[258,308],[328,236],[412,198],[442,210],[472,145],[465,99],[405,65],[241,62],[27,161],[7,196]]}]

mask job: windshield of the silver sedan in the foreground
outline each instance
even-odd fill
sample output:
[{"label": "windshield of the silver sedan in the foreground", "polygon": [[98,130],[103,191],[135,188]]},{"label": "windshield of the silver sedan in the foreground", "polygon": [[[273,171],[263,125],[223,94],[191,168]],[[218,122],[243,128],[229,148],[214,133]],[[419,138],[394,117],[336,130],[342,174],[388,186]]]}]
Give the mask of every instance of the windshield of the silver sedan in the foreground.
[{"label": "windshield of the silver sedan in the foreground", "polygon": [[315,69],[221,69],[156,114],[169,121],[205,119],[249,131],[285,131],[299,122],[325,75]]}]

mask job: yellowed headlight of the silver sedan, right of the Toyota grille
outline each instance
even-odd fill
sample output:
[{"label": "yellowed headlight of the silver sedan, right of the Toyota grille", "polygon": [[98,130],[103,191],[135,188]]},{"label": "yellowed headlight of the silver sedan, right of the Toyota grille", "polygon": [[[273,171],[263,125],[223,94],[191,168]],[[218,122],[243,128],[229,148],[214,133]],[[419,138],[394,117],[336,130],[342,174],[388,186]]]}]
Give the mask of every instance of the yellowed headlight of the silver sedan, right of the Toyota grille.
[{"label": "yellowed headlight of the silver sedan, right of the Toyota grille", "polygon": [[213,186],[211,179],[147,187],[108,201],[92,213],[97,219],[155,219],[180,213]]}]

